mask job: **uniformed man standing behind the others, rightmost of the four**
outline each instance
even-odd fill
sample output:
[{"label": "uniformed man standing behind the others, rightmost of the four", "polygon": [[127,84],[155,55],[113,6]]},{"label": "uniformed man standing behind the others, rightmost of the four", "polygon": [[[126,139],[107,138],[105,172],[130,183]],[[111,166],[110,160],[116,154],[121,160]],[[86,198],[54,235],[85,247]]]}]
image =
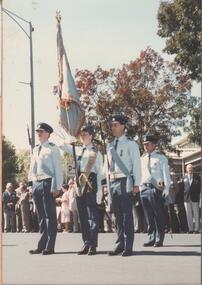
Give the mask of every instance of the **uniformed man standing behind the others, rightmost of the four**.
[{"label": "uniformed man standing behind the others, rightmost of the four", "polygon": [[146,135],[143,144],[145,154],[141,158],[140,197],[149,236],[144,246],[160,247],[163,246],[165,230],[163,198],[169,197],[171,178],[167,158],[156,151],[157,138]]}]

